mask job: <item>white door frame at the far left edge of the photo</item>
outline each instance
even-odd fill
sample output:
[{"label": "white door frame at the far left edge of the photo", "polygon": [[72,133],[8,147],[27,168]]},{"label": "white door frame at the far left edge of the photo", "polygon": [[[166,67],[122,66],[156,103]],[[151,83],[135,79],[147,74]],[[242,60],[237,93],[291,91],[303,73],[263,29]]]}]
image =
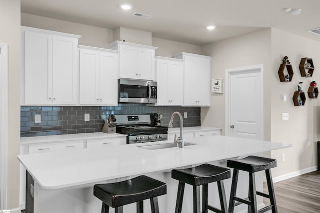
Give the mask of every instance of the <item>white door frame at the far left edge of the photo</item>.
[{"label": "white door frame at the far left edge of the photo", "polygon": [[0,97],[0,209],[6,209],[8,45],[5,43],[0,43]]}]

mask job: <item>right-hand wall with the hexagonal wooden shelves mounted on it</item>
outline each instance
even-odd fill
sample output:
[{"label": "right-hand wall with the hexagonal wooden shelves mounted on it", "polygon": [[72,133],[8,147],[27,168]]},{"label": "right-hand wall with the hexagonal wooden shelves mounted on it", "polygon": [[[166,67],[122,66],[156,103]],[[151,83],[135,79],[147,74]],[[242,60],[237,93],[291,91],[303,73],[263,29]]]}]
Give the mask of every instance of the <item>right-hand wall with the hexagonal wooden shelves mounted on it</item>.
[{"label": "right-hand wall with the hexagonal wooden shelves mounted on it", "polygon": [[[320,42],[272,29],[272,75],[271,75],[271,140],[292,144],[285,150],[272,151],[271,157],[278,160],[280,168],[275,168],[273,176],[284,175],[316,166],[316,141],[320,139],[320,97],[309,99],[307,89],[311,81],[320,83]],[[292,64],[293,79],[290,83],[279,81],[277,71],[283,56],[288,56]],[[312,58],[314,72],[311,78],[301,77],[298,66],[301,58]],[[293,106],[292,96],[298,82],[306,95],[303,107]],[[319,84],[320,86],[320,84]],[[281,102],[280,95],[287,96]],[[281,120],[281,113],[289,113],[289,120]],[[281,154],[285,161],[281,162]],[[282,166],[283,165],[283,166]]]}]

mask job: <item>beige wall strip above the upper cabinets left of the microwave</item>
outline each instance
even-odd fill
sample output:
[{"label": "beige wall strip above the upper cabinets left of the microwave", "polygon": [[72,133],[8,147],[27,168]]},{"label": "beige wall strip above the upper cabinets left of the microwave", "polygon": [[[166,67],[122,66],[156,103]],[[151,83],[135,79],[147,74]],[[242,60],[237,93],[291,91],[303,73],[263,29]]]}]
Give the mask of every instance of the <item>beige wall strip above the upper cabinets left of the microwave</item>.
[{"label": "beige wall strip above the upper cabinets left of the microwave", "polygon": [[113,41],[113,30],[86,24],[21,13],[21,25],[58,32],[81,35],[78,43],[86,46],[109,48]]}]

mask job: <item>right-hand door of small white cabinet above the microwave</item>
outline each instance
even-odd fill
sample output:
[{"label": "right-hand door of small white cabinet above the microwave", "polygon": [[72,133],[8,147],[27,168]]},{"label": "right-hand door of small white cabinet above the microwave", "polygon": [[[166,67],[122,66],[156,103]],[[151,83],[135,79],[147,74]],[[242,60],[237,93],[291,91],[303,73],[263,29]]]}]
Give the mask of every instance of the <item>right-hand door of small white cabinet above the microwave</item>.
[{"label": "right-hand door of small white cabinet above the microwave", "polygon": [[154,79],[154,50],[138,48],[138,78],[145,80]]}]

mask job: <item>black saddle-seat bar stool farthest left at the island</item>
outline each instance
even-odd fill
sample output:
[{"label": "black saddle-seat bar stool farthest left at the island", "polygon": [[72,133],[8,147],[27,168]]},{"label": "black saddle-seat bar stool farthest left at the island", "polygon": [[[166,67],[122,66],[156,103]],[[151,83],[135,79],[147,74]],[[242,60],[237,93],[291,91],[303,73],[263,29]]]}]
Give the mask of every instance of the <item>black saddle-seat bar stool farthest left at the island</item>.
[{"label": "black saddle-seat bar stool farthest left at the island", "polygon": [[109,207],[115,208],[115,213],[122,213],[123,206],[132,203],[136,203],[137,213],[143,213],[143,200],[146,199],[150,199],[151,212],[159,213],[157,197],[165,194],[165,183],[143,175],[93,187],[93,195],[102,201],[101,213],[108,213]]}]

